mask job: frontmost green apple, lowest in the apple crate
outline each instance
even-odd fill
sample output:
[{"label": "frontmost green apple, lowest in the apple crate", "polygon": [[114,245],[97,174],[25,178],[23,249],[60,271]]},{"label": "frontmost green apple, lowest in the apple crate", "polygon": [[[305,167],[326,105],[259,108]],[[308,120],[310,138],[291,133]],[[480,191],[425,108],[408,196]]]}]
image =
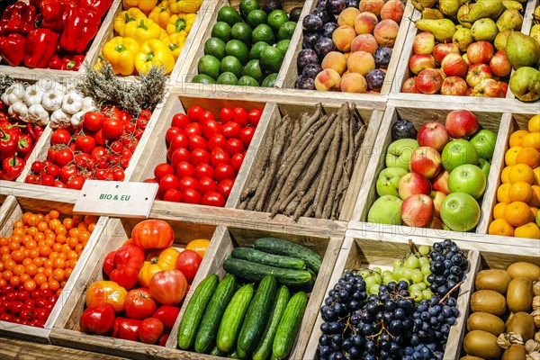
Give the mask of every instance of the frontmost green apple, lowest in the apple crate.
[{"label": "frontmost green apple, lowest in the apple crate", "polygon": [[448,229],[470,231],[480,220],[480,205],[468,193],[450,193],[441,205],[441,220]]}]

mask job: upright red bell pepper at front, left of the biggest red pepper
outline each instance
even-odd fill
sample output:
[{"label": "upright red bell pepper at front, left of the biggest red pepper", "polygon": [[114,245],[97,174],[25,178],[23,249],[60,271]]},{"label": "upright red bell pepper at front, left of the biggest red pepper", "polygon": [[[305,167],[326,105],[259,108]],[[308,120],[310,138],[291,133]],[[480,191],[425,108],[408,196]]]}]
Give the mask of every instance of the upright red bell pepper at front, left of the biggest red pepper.
[{"label": "upright red bell pepper at front, left of the biggest red pepper", "polygon": [[24,65],[27,67],[45,68],[54,55],[58,44],[58,33],[49,29],[34,29],[26,37],[26,56]]}]

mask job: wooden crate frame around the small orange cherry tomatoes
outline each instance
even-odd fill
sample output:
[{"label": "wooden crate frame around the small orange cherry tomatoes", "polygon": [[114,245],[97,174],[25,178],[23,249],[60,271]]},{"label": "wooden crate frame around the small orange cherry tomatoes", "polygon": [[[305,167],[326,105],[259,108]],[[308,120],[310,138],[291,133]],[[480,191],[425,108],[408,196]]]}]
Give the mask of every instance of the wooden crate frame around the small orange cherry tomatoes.
[{"label": "wooden crate frame around the small orange cherry tomatoes", "polygon": [[[53,200],[43,201],[35,199],[31,196],[8,196],[0,209],[0,236],[11,236],[14,221],[20,220],[24,212],[32,211],[47,213],[51,210],[57,210],[61,215],[72,216],[73,204]],[[0,335],[13,338],[23,338],[24,340],[30,340],[33,342],[49,342],[50,331],[58,320],[60,311],[62,311],[64,308],[69,294],[75,291],[76,284],[78,284],[79,279],[81,278],[80,276],[83,274],[83,269],[88,262],[88,258],[91,257],[94,252],[94,247],[96,247],[99,243],[99,238],[103,233],[107,220],[108,218],[101,217],[97,221],[95,229],[92,232],[85,249],[78,258],[76,266],[69,276],[64,290],[58,298],[58,302],[50,312],[49,319],[45,322],[44,328],[40,329],[7,321],[0,321]]]}]

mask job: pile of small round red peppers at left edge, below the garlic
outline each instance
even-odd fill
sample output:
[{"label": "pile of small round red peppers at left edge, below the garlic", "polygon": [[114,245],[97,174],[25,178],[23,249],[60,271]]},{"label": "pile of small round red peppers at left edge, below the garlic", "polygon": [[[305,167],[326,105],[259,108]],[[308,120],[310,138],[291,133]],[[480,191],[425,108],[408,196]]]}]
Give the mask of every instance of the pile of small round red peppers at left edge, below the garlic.
[{"label": "pile of small round red peppers at left edge, below the garlic", "polygon": [[13,181],[23,172],[26,159],[43,133],[43,128],[10,119],[0,112],[0,179]]}]

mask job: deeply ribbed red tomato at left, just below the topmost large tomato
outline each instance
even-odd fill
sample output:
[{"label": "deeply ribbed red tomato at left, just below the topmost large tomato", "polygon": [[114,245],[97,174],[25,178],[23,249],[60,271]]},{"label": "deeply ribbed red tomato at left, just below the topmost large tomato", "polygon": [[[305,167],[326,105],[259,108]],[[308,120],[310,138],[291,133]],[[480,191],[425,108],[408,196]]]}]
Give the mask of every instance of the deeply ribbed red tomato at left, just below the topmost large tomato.
[{"label": "deeply ribbed red tomato at left, just below the topmost large tomato", "polygon": [[145,257],[140,247],[124,245],[105,258],[103,270],[111,281],[130,289],[137,284],[139,270],[144,264]]}]

